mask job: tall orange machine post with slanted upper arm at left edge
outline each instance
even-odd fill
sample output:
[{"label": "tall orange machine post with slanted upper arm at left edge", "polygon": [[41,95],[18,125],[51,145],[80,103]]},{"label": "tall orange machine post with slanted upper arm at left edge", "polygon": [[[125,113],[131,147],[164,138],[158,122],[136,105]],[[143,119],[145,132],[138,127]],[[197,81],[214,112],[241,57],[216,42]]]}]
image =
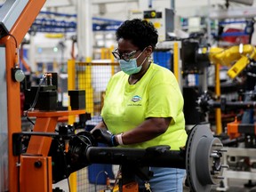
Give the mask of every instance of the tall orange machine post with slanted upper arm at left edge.
[{"label": "tall orange machine post with slanted upper arm at left edge", "polygon": [[[12,81],[12,68],[15,63],[16,45],[19,45],[28,32],[36,16],[44,6],[45,0],[28,0],[28,4],[20,13],[18,20],[9,31],[9,36],[0,38],[0,44],[5,46],[6,52],[6,84],[7,84],[7,124],[8,124],[8,187],[10,192],[19,189],[18,168],[16,163],[18,157],[12,155],[12,133],[21,132],[20,118],[20,84]],[[14,39],[14,38],[15,39]],[[15,40],[17,44],[15,43]],[[14,183],[13,183],[14,182]]]}]

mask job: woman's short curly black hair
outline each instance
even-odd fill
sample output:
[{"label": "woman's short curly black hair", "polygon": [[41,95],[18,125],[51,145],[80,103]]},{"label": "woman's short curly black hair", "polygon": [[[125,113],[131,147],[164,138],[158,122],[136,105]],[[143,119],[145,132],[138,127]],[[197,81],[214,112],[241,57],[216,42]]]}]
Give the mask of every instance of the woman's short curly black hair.
[{"label": "woman's short curly black hair", "polygon": [[124,23],[116,30],[116,40],[120,38],[130,40],[132,44],[138,46],[140,50],[151,45],[153,50],[158,40],[157,30],[147,20],[125,20]]}]

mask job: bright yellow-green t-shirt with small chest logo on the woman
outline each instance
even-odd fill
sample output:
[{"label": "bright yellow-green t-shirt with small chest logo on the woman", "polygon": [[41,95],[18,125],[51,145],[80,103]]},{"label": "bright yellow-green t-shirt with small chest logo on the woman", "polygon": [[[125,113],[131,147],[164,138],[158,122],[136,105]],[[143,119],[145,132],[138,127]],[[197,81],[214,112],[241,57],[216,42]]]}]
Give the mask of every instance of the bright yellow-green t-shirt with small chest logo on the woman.
[{"label": "bright yellow-green t-shirt with small chest logo on the woman", "polygon": [[127,132],[148,117],[172,117],[166,132],[153,140],[125,145],[127,148],[148,148],[169,145],[185,146],[187,133],[183,114],[184,100],[172,72],[154,63],[137,84],[128,83],[128,75],[116,73],[108,82],[101,116],[114,134]]}]

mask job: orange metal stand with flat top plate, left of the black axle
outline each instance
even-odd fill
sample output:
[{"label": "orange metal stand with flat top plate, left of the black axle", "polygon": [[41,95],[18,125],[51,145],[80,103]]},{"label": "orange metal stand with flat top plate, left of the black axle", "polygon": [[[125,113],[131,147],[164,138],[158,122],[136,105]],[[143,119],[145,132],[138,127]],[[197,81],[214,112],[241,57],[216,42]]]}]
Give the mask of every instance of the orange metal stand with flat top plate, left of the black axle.
[{"label": "orange metal stand with flat top plate, left of the black axle", "polygon": [[[36,116],[33,132],[54,132],[62,116],[84,114],[85,110],[28,112]],[[20,156],[20,192],[52,191],[51,137],[31,136],[26,154]]]}]

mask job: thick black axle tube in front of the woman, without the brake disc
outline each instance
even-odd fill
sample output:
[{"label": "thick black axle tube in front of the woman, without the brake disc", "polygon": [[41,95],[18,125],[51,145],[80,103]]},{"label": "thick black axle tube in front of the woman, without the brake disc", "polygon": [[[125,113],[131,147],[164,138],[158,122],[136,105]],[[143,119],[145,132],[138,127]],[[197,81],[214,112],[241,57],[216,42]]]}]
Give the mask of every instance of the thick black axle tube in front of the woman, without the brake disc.
[{"label": "thick black axle tube in front of the woman, without the brake disc", "polygon": [[186,169],[185,152],[179,150],[158,152],[148,149],[89,147],[86,158],[90,164],[141,164]]}]

